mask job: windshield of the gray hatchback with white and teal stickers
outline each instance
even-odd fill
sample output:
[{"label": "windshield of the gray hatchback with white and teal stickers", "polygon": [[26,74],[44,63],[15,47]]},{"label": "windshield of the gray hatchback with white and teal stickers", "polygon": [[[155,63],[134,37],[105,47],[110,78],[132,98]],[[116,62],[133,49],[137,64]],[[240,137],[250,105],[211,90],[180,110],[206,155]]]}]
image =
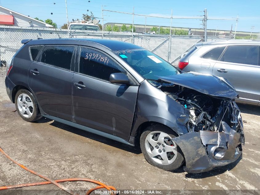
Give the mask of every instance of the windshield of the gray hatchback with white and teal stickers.
[{"label": "windshield of the gray hatchback with white and teal stickers", "polygon": [[119,50],[114,53],[148,80],[158,80],[158,76],[179,74],[170,63],[145,49]]}]

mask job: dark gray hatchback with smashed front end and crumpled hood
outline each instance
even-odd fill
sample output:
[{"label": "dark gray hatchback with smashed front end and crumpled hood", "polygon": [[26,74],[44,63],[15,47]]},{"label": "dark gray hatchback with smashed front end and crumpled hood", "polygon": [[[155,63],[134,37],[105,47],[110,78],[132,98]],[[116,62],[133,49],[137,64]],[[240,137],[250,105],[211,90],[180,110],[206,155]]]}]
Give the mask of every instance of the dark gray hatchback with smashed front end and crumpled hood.
[{"label": "dark gray hatchback with smashed front end and crumpled hood", "polygon": [[106,39],[22,40],[7,64],[6,91],[23,120],[42,116],[140,146],[164,170],[186,161],[199,173],[242,154],[238,96],[225,79],[181,73],[131,43]]}]

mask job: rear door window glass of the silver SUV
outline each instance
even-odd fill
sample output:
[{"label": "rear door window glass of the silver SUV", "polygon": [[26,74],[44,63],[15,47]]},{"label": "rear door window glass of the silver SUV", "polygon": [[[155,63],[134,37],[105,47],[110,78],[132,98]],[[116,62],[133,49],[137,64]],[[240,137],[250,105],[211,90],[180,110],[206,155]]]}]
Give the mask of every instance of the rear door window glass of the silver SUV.
[{"label": "rear door window glass of the silver SUV", "polygon": [[258,46],[228,46],[220,61],[258,65],[258,48]]}]

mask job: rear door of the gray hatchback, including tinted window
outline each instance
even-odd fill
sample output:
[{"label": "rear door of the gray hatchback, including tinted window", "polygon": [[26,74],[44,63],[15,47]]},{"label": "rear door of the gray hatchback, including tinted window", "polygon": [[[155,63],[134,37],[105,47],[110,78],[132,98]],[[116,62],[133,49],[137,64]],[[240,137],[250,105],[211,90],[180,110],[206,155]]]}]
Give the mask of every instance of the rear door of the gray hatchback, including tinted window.
[{"label": "rear door of the gray hatchback, including tinted window", "polygon": [[28,84],[42,110],[51,116],[72,120],[73,45],[48,45],[33,56],[28,71]]}]

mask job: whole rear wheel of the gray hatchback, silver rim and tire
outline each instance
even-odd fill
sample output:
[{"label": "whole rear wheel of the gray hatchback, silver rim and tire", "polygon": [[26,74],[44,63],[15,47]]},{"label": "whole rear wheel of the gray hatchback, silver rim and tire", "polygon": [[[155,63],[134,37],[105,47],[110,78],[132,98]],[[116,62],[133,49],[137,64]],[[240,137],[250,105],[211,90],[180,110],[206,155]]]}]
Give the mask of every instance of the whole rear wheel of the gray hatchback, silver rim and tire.
[{"label": "whole rear wheel of the gray hatchback, silver rim and tire", "polygon": [[33,122],[41,118],[41,113],[34,95],[26,89],[17,91],[15,95],[15,107],[23,120]]}]

